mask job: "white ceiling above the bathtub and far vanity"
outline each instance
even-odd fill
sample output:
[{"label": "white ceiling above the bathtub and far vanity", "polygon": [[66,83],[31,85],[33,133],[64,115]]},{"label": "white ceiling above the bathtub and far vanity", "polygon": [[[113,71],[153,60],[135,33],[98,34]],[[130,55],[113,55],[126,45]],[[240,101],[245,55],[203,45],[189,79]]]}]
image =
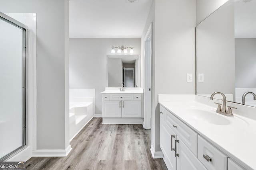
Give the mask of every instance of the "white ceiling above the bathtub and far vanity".
[{"label": "white ceiling above the bathtub and far vanity", "polygon": [[140,38],[152,0],[69,0],[70,38]]}]

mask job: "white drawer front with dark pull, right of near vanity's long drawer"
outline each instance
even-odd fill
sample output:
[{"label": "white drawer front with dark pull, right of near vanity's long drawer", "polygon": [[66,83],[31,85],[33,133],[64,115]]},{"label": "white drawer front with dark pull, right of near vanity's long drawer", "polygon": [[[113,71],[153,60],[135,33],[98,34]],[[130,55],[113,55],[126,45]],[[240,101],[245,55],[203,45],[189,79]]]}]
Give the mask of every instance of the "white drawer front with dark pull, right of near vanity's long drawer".
[{"label": "white drawer front with dark pull, right of near vanity's long drawer", "polygon": [[208,170],[227,170],[227,156],[199,135],[198,159]]}]

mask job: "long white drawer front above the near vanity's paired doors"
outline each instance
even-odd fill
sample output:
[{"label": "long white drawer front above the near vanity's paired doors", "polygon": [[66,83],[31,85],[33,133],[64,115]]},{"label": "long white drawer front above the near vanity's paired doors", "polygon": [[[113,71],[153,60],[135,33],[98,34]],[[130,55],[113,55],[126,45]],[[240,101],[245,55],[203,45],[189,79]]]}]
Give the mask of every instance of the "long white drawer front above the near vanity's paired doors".
[{"label": "long white drawer front above the near vanity's paired doors", "polygon": [[173,129],[173,131],[178,135],[182,142],[193,152],[193,154],[197,156],[198,134],[167,110],[166,123],[170,128]]}]

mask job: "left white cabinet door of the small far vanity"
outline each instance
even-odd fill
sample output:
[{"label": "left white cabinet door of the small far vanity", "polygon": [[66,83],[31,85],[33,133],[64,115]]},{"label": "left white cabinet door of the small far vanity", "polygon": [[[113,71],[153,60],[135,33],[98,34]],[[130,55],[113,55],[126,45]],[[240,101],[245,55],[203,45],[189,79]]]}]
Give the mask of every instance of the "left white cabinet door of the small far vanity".
[{"label": "left white cabinet door of the small far vanity", "polygon": [[102,100],[102,117],[122,117],[121,105],[118,100]]}]

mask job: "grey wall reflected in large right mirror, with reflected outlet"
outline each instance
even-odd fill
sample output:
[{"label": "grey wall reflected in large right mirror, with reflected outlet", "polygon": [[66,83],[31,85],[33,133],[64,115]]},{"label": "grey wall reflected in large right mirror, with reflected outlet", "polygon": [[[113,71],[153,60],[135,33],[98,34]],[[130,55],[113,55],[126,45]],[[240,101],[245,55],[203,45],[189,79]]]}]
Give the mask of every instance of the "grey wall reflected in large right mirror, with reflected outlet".
[{"label": "grey wall reflected in large right mirror, with reflected outlet", "polygon": [[[197,94],[235,96],[234,4],[225,4],[196,27]],[[220,82],[224,82],[224,84]]]}]

